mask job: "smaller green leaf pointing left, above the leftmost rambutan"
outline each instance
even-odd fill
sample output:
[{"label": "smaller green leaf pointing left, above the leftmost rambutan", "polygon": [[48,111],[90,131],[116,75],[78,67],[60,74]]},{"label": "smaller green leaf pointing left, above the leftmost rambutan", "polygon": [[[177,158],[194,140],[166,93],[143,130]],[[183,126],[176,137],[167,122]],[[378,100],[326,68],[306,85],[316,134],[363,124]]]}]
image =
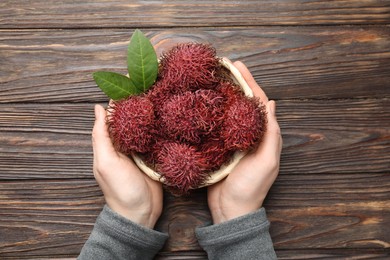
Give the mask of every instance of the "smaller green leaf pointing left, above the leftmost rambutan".
[{"label": "smaller green leaf pointing left, above the leftmost rambutan", "polygon": [[115,72],[98,71],[93,73],[93,79],[103,92],[111,99],[118,100],[130,95],[139,94],[140,91],[126,76]]}]

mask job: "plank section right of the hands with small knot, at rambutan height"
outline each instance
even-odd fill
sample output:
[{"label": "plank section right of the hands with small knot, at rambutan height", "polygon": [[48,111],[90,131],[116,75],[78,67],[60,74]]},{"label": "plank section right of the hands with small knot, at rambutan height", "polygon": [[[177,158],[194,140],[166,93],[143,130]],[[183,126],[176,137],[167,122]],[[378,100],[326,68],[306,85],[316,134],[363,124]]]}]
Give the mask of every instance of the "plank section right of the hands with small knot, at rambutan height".
[{"label": "plank section right of the hands with small knot, at rambutan height", "polygon": [[388,172],[388,99],[279,101],[282,173]]}]

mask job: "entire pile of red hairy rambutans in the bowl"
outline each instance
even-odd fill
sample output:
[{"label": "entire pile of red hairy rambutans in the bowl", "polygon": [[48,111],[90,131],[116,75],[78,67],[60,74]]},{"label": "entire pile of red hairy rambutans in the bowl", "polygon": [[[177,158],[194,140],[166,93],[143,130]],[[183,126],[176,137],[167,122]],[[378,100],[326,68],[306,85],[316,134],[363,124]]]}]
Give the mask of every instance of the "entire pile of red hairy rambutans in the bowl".
[{"label": "entire pile of red hairy rambutans in the bowl", "polygon": [[140,156],[176,194],[204,186],[235,152],[255,149],[266,130],[264,105],[220,61],[211,45],[178,44],[160,57],[147,92],[109,108],[116,149]]}]

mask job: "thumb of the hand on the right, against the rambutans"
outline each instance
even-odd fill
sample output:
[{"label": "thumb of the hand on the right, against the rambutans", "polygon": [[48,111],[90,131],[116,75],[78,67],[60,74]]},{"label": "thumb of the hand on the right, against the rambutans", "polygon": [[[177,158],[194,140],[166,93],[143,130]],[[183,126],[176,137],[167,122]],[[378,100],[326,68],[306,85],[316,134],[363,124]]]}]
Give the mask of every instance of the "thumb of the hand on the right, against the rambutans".
[{"label": "thumb of the hand on the right, against the rambutans", "polygon": [[263,141],[257,149],[258,155],[267,153],[269,155],[280,157],[282,151],[282,136],[279,124],[276,120],[276,104],[271,100],[266,104],[267,109],[267,130],[264,134]]}]

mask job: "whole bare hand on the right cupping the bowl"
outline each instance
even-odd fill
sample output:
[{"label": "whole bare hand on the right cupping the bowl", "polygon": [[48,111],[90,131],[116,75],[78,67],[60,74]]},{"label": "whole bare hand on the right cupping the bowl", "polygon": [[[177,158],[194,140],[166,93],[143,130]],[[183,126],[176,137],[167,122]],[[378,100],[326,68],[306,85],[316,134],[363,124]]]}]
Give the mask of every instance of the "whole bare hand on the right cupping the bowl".
[{"label": "whole bare hand on the right cupping the bowl", "polygon": [[280,128],[275,116],[275,102],[269,101],[247,67],[234,66],[241,72],[254,95],[267,109],[267,131],[256,151],[248,153],[224,180],[208,188],[208,204],[214,224],[258,210],[279,173],[282,150]]}]

